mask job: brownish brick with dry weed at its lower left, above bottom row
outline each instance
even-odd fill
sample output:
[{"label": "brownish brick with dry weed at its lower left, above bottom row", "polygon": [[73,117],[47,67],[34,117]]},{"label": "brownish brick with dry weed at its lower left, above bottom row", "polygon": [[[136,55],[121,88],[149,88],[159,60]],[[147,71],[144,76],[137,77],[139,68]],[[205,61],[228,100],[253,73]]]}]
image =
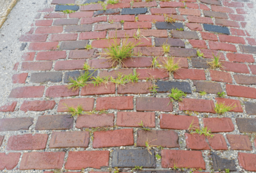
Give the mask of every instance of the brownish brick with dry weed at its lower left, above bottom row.
[{"label": "brownish brick with dry weed at its lower left, above bottom row", "polygon": [[150,145],[157,145],[168,148],[180,147],[178,134],[172,130],[137,131],[137,146],[146,147],[146,141],[148,141]]}]

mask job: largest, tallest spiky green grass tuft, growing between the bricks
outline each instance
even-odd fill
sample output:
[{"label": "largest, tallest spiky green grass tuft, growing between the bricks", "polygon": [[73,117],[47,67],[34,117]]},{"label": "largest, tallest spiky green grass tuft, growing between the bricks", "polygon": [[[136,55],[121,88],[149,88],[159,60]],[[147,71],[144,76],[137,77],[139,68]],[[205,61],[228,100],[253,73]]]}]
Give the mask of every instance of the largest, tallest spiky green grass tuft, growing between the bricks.
[{"label": "largest, tallest spiky green grass tuft, growing between the bricks", "polygon": [[140,45],[140,42],[135,44],[132,42],[128,43],[128,37],[123,41],[122,46],[117,43],[117,39],[114,38],[114,43],[107,49],[104,49],[106,53],[104,55],[107,55],[107,58],[109,58],[109,61],[111,61],[111,66],[116,66],[118,64],[123,63],[123,60],[126,58],[130,58],[134,55],[132,52],[133,48],[135,46]]}]

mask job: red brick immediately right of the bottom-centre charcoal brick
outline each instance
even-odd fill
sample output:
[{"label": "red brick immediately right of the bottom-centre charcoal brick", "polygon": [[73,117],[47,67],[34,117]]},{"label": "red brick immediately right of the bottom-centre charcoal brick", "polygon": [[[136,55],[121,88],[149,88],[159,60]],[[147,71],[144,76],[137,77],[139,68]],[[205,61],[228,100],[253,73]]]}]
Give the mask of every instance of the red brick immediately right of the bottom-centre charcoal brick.
[{"label": "red brick immediately right of the bottom-centre charcoal brick", "polygon": [[201,151],[162,150],[162,167],[189,167],[205,169]]}]

